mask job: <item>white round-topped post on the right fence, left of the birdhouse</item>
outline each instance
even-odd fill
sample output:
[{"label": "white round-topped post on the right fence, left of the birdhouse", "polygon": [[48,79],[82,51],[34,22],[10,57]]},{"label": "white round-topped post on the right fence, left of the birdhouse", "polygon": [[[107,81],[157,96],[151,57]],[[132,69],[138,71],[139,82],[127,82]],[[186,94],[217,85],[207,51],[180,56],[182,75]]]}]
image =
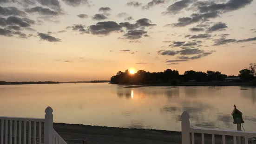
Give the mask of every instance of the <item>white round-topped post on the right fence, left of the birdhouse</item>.
[{"label": "white round-topped post on the right fence, left of the birdhouse", "polygon": [[181,115],[181,138],[182,144],[190,144],[190,115],[187,111],[184,111]]}]

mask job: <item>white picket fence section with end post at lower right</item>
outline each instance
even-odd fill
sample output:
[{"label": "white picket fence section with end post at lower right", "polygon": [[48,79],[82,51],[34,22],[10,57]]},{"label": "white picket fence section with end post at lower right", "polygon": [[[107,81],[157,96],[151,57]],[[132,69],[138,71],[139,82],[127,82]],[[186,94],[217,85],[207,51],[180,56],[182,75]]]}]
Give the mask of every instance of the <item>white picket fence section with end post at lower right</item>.
[{"label": "white picket fence section with end post at lower right", "polygon": [[215,135],[222,135],[222,144],[226,144],[225,136],[233,136],[233,144],[239,144],[237,137],[244,137],[244,144],[248,144],[248,137],[256,137],[256,132],[192,128],[189,118],[189,113],[184,111],[181,115],[182,144],[195,144],[195,133],[202,134],[202,144],[205,142],[204,134],[211,134],[212,144],[215,144]]}]

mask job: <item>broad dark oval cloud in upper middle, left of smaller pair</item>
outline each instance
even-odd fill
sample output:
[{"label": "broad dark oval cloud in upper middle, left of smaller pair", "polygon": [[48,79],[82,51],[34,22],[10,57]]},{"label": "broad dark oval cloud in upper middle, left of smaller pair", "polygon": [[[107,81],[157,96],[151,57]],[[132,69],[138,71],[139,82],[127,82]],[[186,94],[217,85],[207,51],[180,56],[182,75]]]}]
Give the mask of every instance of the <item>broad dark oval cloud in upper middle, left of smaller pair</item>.
[{"label": "broad dark oval cloud in upper middle, left of smaller pair", "polygon": [[89,26],[88,31],[95,35],[108,35],[112,32],[122,32],[122,26],[114,21],[98,22],[96,25]]}]

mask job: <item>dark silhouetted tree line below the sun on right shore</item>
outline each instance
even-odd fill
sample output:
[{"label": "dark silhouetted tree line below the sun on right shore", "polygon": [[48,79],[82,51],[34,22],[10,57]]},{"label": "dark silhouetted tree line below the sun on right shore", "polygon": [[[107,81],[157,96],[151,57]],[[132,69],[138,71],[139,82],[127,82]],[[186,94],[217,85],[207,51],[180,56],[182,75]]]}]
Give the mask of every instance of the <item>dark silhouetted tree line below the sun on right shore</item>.
[{"label": "dark silhouetted tree line below the sun on right shore", "polygon": [[125,72],[117,72],[115,76],[110,79],[111,84],[156,84],[156,83],[167,83],[172,82],[173,84],[179,82],[187,82],[189,80],[196,80],[198,82],[209,82],[209,81],[223,81],[226,78],[240,77],[243,81],[251,81],[256,78],[256,63],[249,64],[248,68],[239,71],[237,76],[226,75],[221,72],[207,71],[207,72],[196,72],[193,70],[185,71],[184,74],[179,74],[177,70],[166,69],[164,72],[146,72],[139,70],[134,74],[131,74],[129,70]]}]

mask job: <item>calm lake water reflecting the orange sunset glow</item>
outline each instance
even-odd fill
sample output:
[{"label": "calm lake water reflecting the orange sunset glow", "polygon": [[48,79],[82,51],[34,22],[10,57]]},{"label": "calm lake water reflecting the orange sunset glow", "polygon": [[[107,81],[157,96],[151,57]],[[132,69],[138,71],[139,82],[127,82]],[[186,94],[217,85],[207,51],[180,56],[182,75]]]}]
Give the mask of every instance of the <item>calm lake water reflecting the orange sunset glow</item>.
[{"label": "calm lake water reflecting the orange sunset glow", "polygon": [[231,112],[243,112],[245,131],[256,131],[256,88],[241,86],[139,87],[106,83],[0,85],[0,116],[44,118],[54,122],[181,131],[190,124],[235,130]]}]

